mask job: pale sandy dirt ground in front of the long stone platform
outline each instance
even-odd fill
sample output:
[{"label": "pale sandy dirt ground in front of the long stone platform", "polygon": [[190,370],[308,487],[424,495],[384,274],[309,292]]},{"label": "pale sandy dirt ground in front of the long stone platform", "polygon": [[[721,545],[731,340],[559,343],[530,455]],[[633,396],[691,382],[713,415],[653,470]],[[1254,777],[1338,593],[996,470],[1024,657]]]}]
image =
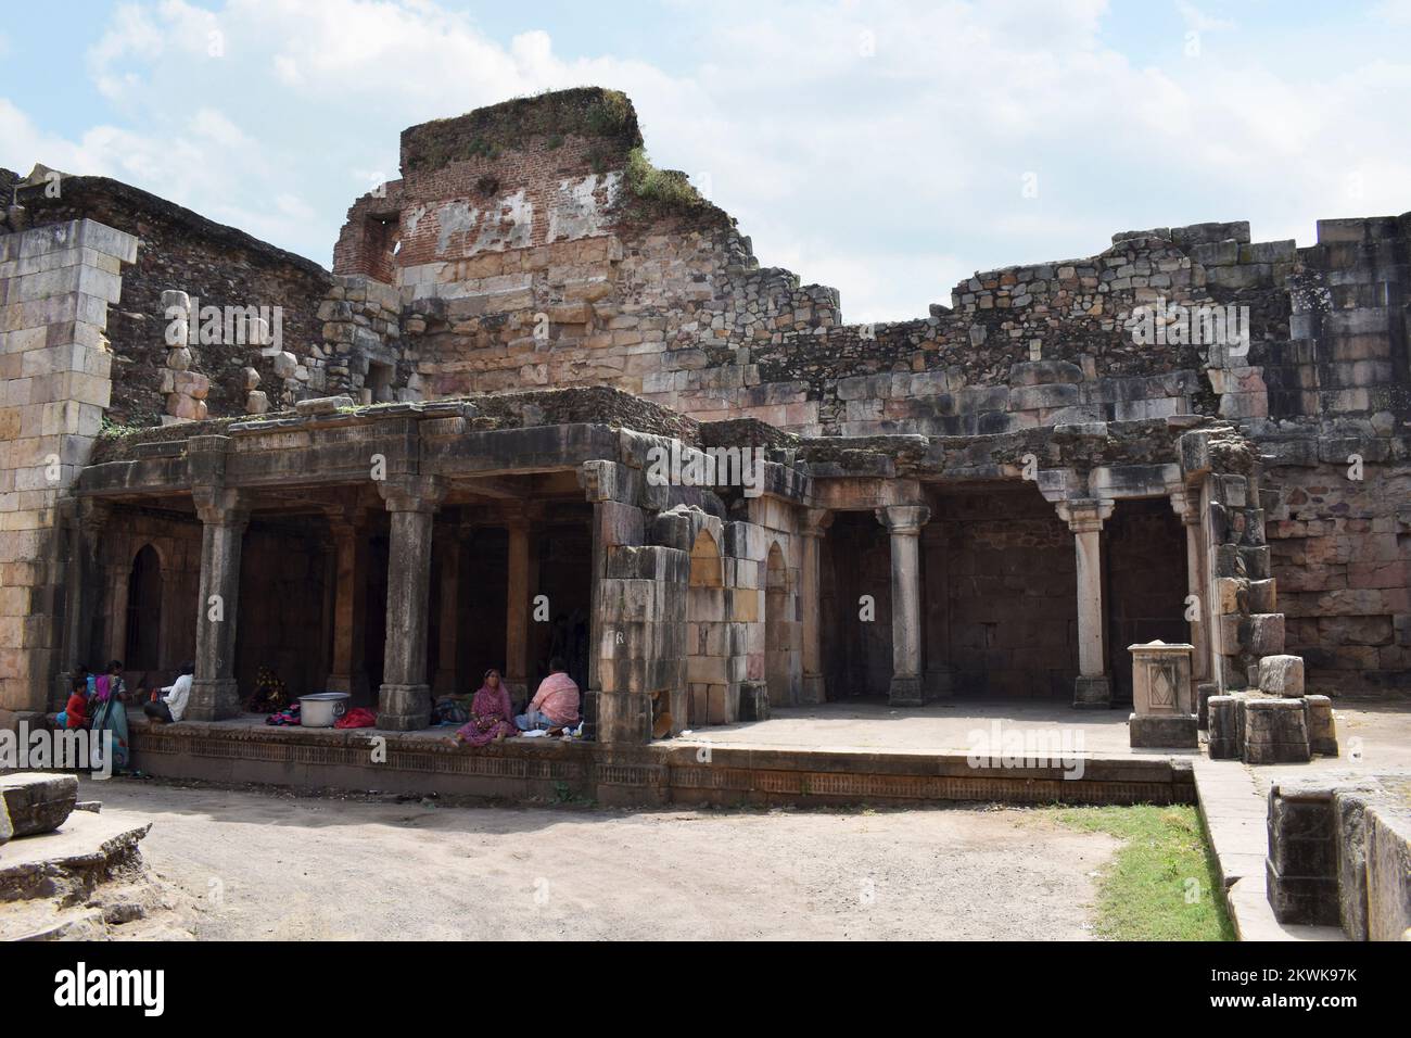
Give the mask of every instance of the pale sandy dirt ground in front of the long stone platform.
[{"label": "pale sandy dirt ground in front of the long stone platform", "polygon": [[85,780],[199,939],[1086,939],[1119,846],[1022,808],[607,811]]}]

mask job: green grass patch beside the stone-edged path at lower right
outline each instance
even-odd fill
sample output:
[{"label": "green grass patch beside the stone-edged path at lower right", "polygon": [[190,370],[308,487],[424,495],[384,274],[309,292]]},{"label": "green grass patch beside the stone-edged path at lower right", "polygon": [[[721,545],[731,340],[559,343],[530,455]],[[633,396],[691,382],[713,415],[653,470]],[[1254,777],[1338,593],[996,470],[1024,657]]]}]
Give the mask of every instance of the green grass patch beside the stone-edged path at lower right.
[{"label": "green grass patch beside the stone-edged path at lower right", "polygon": [[1048,808],[1123,842],[1098,880],[1095,932],[1108,941],[1233,941],[1219,870],[1192,806]]}]

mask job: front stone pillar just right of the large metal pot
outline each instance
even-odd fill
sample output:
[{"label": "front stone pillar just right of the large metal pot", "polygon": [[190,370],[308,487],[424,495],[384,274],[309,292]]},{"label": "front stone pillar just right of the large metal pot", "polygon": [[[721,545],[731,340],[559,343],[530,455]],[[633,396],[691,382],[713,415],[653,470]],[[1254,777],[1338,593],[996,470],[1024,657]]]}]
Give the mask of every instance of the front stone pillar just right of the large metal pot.
[{"label": "front stone pillar just right of the large metal pot", "polygon": [[444,486],[432,476],[402,476],[377,484],[392,514],[387,562],[387,651],[378,691],[377,726],[412,732],[430,723],[426,628],[430,612],[432,520]]}]

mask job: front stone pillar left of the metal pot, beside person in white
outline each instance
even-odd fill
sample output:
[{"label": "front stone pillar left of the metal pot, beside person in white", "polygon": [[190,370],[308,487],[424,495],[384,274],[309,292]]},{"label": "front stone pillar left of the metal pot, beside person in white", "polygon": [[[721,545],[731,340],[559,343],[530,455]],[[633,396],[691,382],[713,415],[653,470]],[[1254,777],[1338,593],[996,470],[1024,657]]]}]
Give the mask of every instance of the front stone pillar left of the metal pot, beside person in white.
[{"label": "front stone pillar left of the metal pot, beside person in white", "polygon": [[236,621],[240,607],[240,548],[250,513],[238,490],[198,487],[200,595],[196,602],[196,679],[186,717],[220,720],[240,713],[236,684]]}]

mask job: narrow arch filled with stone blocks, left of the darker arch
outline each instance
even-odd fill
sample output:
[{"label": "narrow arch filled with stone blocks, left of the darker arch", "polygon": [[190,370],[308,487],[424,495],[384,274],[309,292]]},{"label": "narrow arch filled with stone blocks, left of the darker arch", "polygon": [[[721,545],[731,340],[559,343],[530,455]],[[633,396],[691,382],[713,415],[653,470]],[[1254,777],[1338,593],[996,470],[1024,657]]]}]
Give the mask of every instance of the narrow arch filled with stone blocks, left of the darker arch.
[{"label": "narrow arch filled with stone blocks, left of the darker arch", "polygon": [[691,576],[686,590],[687,724],[724,724],[732,719],[728,686],[724,566],[715,538],[701,530],[691,545]]}]

